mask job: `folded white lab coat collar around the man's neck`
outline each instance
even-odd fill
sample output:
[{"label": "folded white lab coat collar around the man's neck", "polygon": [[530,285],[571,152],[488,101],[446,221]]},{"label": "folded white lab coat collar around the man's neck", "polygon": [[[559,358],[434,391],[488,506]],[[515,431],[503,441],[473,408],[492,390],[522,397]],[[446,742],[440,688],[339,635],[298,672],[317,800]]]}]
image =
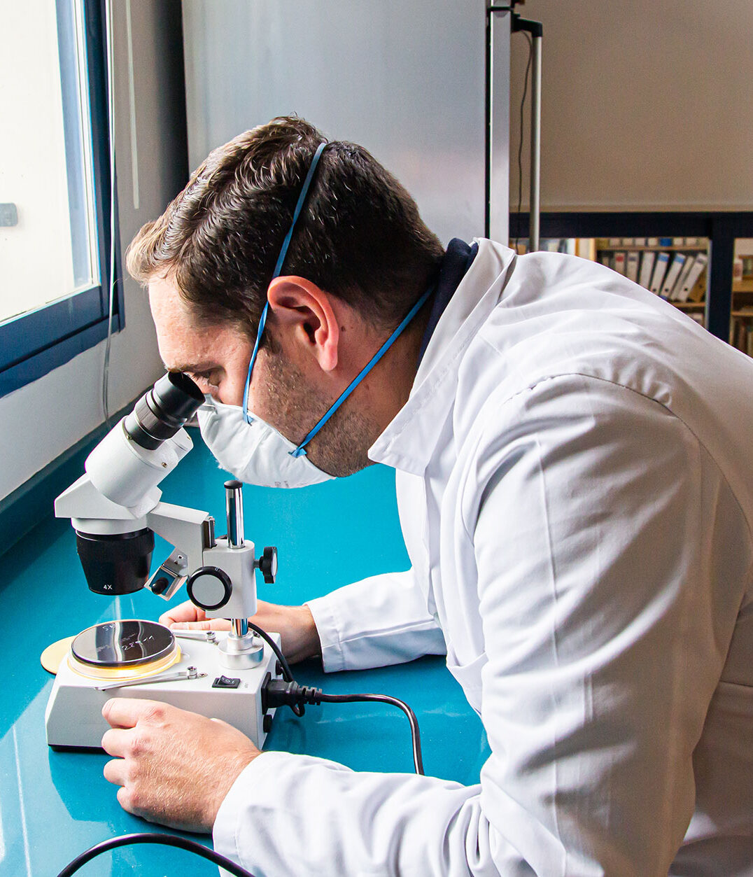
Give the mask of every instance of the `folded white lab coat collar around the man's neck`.
[{"label": "folded white lab coat collar around the man's neck", "polygon": [[499,302],[515,253],[475,239],[479,253],[437,323],[408,402],[369,449],[369,459],[423,475],[437,446],[437,424],[455,398],[458,367],[466,348]]}]

